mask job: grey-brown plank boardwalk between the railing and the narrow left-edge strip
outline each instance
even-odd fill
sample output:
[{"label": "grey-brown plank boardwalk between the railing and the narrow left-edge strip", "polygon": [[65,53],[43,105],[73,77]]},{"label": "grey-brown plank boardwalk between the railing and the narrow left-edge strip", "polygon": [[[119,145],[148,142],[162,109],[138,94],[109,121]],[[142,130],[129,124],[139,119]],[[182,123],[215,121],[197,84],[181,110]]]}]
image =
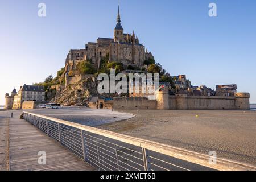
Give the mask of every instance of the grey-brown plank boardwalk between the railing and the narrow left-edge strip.
[{"label": "grey-brown plank boardwalk between the railing and the narrow left-edge strip", "polygon": [[[46,165],[38,163],[39,151],[46,152]],[[10,119],[11,171],[92,171],[90,164],[35,126],[17,117]]]}]

